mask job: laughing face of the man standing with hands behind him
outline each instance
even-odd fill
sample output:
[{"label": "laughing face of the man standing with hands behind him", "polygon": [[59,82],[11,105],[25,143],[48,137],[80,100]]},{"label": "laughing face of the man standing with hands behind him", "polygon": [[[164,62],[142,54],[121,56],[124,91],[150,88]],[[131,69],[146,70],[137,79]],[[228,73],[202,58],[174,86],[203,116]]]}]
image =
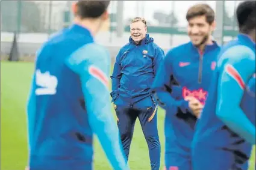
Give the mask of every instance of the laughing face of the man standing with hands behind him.
[{"label": "laughing face of the man standing with hands behind him", "polygon": [[142,21],[131,23],[130,25],[131,38],[134,42],[139,43],[140,40],[146,37],[147,28]]}]

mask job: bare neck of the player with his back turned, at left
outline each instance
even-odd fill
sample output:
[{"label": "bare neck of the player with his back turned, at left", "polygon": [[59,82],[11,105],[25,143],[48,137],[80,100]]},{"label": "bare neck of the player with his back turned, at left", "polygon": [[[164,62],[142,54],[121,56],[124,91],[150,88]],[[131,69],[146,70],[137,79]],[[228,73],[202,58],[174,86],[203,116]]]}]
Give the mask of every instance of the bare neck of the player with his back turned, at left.
[{"label": "bare neck of the player with his back turned, at left", "polygon": [[93,36],[95,36],[98,33],[99,28],[101,27],[101,22],[97,19],[81,20],[80,18],[76,17],[73,20],[73,23],[83,26],[84,28],[88,29]]}]

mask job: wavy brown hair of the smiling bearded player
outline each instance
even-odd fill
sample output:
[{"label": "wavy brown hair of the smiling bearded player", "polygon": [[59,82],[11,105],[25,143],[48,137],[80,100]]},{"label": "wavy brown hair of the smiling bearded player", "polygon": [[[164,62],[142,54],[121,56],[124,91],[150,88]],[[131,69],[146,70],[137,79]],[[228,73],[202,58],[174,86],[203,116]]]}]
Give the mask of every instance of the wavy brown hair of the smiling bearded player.
[{"label": "wavy brown hair of the smiling bearded player", "polygon": [[215,20],[215,13],[213,8],[208,4],[196,4],[189,8],[186,14],[186,19],[189,21],[190,19],[198,16],[205,16],[206,21],[211,24]]}]

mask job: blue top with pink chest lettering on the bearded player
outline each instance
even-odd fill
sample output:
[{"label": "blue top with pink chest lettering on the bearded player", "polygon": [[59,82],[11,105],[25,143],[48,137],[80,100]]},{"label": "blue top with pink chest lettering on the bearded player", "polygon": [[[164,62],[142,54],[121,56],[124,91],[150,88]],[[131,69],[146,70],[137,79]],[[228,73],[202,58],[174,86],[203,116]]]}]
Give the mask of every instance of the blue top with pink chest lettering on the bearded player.
[{"label": "blue top with pink chest lettering on the bearded player", "polygon": [[205,103],[219,50],[213,42],[200,53],[189,42],[166,54],[152,86],[158,104],[166,110],[166,153],[189,154],[196,117],[189,112],[184,97],[193,96]]}]

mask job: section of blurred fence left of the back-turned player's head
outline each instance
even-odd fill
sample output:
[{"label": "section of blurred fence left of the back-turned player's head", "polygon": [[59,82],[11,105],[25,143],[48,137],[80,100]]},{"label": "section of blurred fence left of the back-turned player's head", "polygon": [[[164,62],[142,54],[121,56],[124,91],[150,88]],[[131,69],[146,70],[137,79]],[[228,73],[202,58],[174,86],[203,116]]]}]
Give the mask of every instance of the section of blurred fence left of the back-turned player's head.
[{"label": "section of blurred fence left of the back-turned player's head", "polygon": [[66,2],[1,1],[1,32],[49,33],[63,27]]}]

